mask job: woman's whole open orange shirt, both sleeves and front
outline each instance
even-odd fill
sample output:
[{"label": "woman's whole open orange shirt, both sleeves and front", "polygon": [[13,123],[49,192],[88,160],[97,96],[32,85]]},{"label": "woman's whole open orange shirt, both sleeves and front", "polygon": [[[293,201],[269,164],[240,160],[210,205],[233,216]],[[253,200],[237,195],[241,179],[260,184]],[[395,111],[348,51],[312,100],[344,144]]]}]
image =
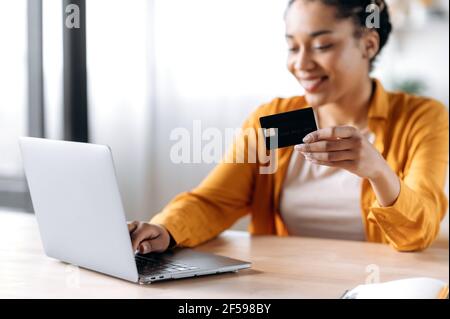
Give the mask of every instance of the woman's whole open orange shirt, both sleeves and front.
[{"label": "woman's whole open orange shirt, both sleeves and front", "polygon": [[[366,239],[389,243],[400,251],[425,249],[436,238],[448,205],[443,191],[448,111],[435,100],[386,92],[379,81],[375,83],[369,129],[376,135],[375,148],[399,176],[401,190],[392,206],[381,207],[370,183],[363,180],[361,218]],[[243,128],[258,130],[261,116],[305,107],[303,96],[275,99],[253,112]],[[242,151],[239,145],[235,143],[227,157]],[[251,234],[287,236],[279,204],[292,152],[293,147],[276,151],[274,174],[261,174],[258,161],[223,161],[197,188],[175,197],[151,223],[163,225],[178,245],[187,247],[217,236],[246,214],[251,214]]]}]

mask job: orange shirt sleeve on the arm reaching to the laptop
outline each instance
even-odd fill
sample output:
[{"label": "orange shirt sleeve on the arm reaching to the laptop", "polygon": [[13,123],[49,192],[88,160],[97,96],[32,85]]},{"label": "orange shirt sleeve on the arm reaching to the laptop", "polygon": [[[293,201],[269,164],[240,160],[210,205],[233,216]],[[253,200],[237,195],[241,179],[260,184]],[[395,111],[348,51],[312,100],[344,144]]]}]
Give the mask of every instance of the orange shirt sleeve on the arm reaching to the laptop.
[{"label": "orange shirt sleeve on the arm reaching to the laptop", "polygon": [[[255,130],[257,120],[255,113],[244,123],[243,132]],[[244,133],[198,187],[176,196],[151,219],[163,225],[179,246],[193,247],[214,238],[250,211],[258,164],[233,161],[250,145]]]}]

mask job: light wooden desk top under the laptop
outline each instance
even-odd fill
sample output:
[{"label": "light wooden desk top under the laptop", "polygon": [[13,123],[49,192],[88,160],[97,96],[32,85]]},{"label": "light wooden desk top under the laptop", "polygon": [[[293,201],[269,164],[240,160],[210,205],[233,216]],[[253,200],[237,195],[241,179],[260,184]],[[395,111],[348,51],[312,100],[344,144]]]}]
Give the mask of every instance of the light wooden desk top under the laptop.
[{"label": "light wooden desk top under the laptop", "polygon": [[248,260],[253,267],[139,286],[46,257],[33,215],[0,213],[0,297],[339,298],[378,271],[381,281],[449,278],[448,245],[398,253],[381,244],[225,232],[198,250]]}]

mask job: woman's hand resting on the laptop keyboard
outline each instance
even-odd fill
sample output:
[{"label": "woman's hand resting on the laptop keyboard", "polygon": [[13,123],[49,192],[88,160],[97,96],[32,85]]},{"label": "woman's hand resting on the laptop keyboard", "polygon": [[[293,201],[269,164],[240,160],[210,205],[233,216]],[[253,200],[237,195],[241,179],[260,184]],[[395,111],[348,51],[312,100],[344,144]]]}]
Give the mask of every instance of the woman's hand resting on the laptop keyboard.
[{"label": "woman's hand resting on the laptop keyboard", "polygon": [[160,253],[169,247],[170,235],[163,226],[134,221],[128,224],[128,231],[133,251]]}]

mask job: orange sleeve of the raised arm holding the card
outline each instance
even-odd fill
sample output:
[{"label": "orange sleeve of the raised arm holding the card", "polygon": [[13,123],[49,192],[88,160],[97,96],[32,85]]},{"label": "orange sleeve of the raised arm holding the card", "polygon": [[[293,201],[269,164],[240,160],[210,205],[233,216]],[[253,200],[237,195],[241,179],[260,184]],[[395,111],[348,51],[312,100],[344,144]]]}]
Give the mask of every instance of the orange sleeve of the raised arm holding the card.
[{"label": "orange sleeve of the raised arm holding the card", "polygon": [[[388,242],[399,251],[430,246],[437,237],[448,200],[444,184],[448,167],[448,111],[428,101],[410,118],[406,169],[400,195],[390,207],[374,203],[369,220],[377,223]],[[402,176],[401,176],[402,177]]]}]

